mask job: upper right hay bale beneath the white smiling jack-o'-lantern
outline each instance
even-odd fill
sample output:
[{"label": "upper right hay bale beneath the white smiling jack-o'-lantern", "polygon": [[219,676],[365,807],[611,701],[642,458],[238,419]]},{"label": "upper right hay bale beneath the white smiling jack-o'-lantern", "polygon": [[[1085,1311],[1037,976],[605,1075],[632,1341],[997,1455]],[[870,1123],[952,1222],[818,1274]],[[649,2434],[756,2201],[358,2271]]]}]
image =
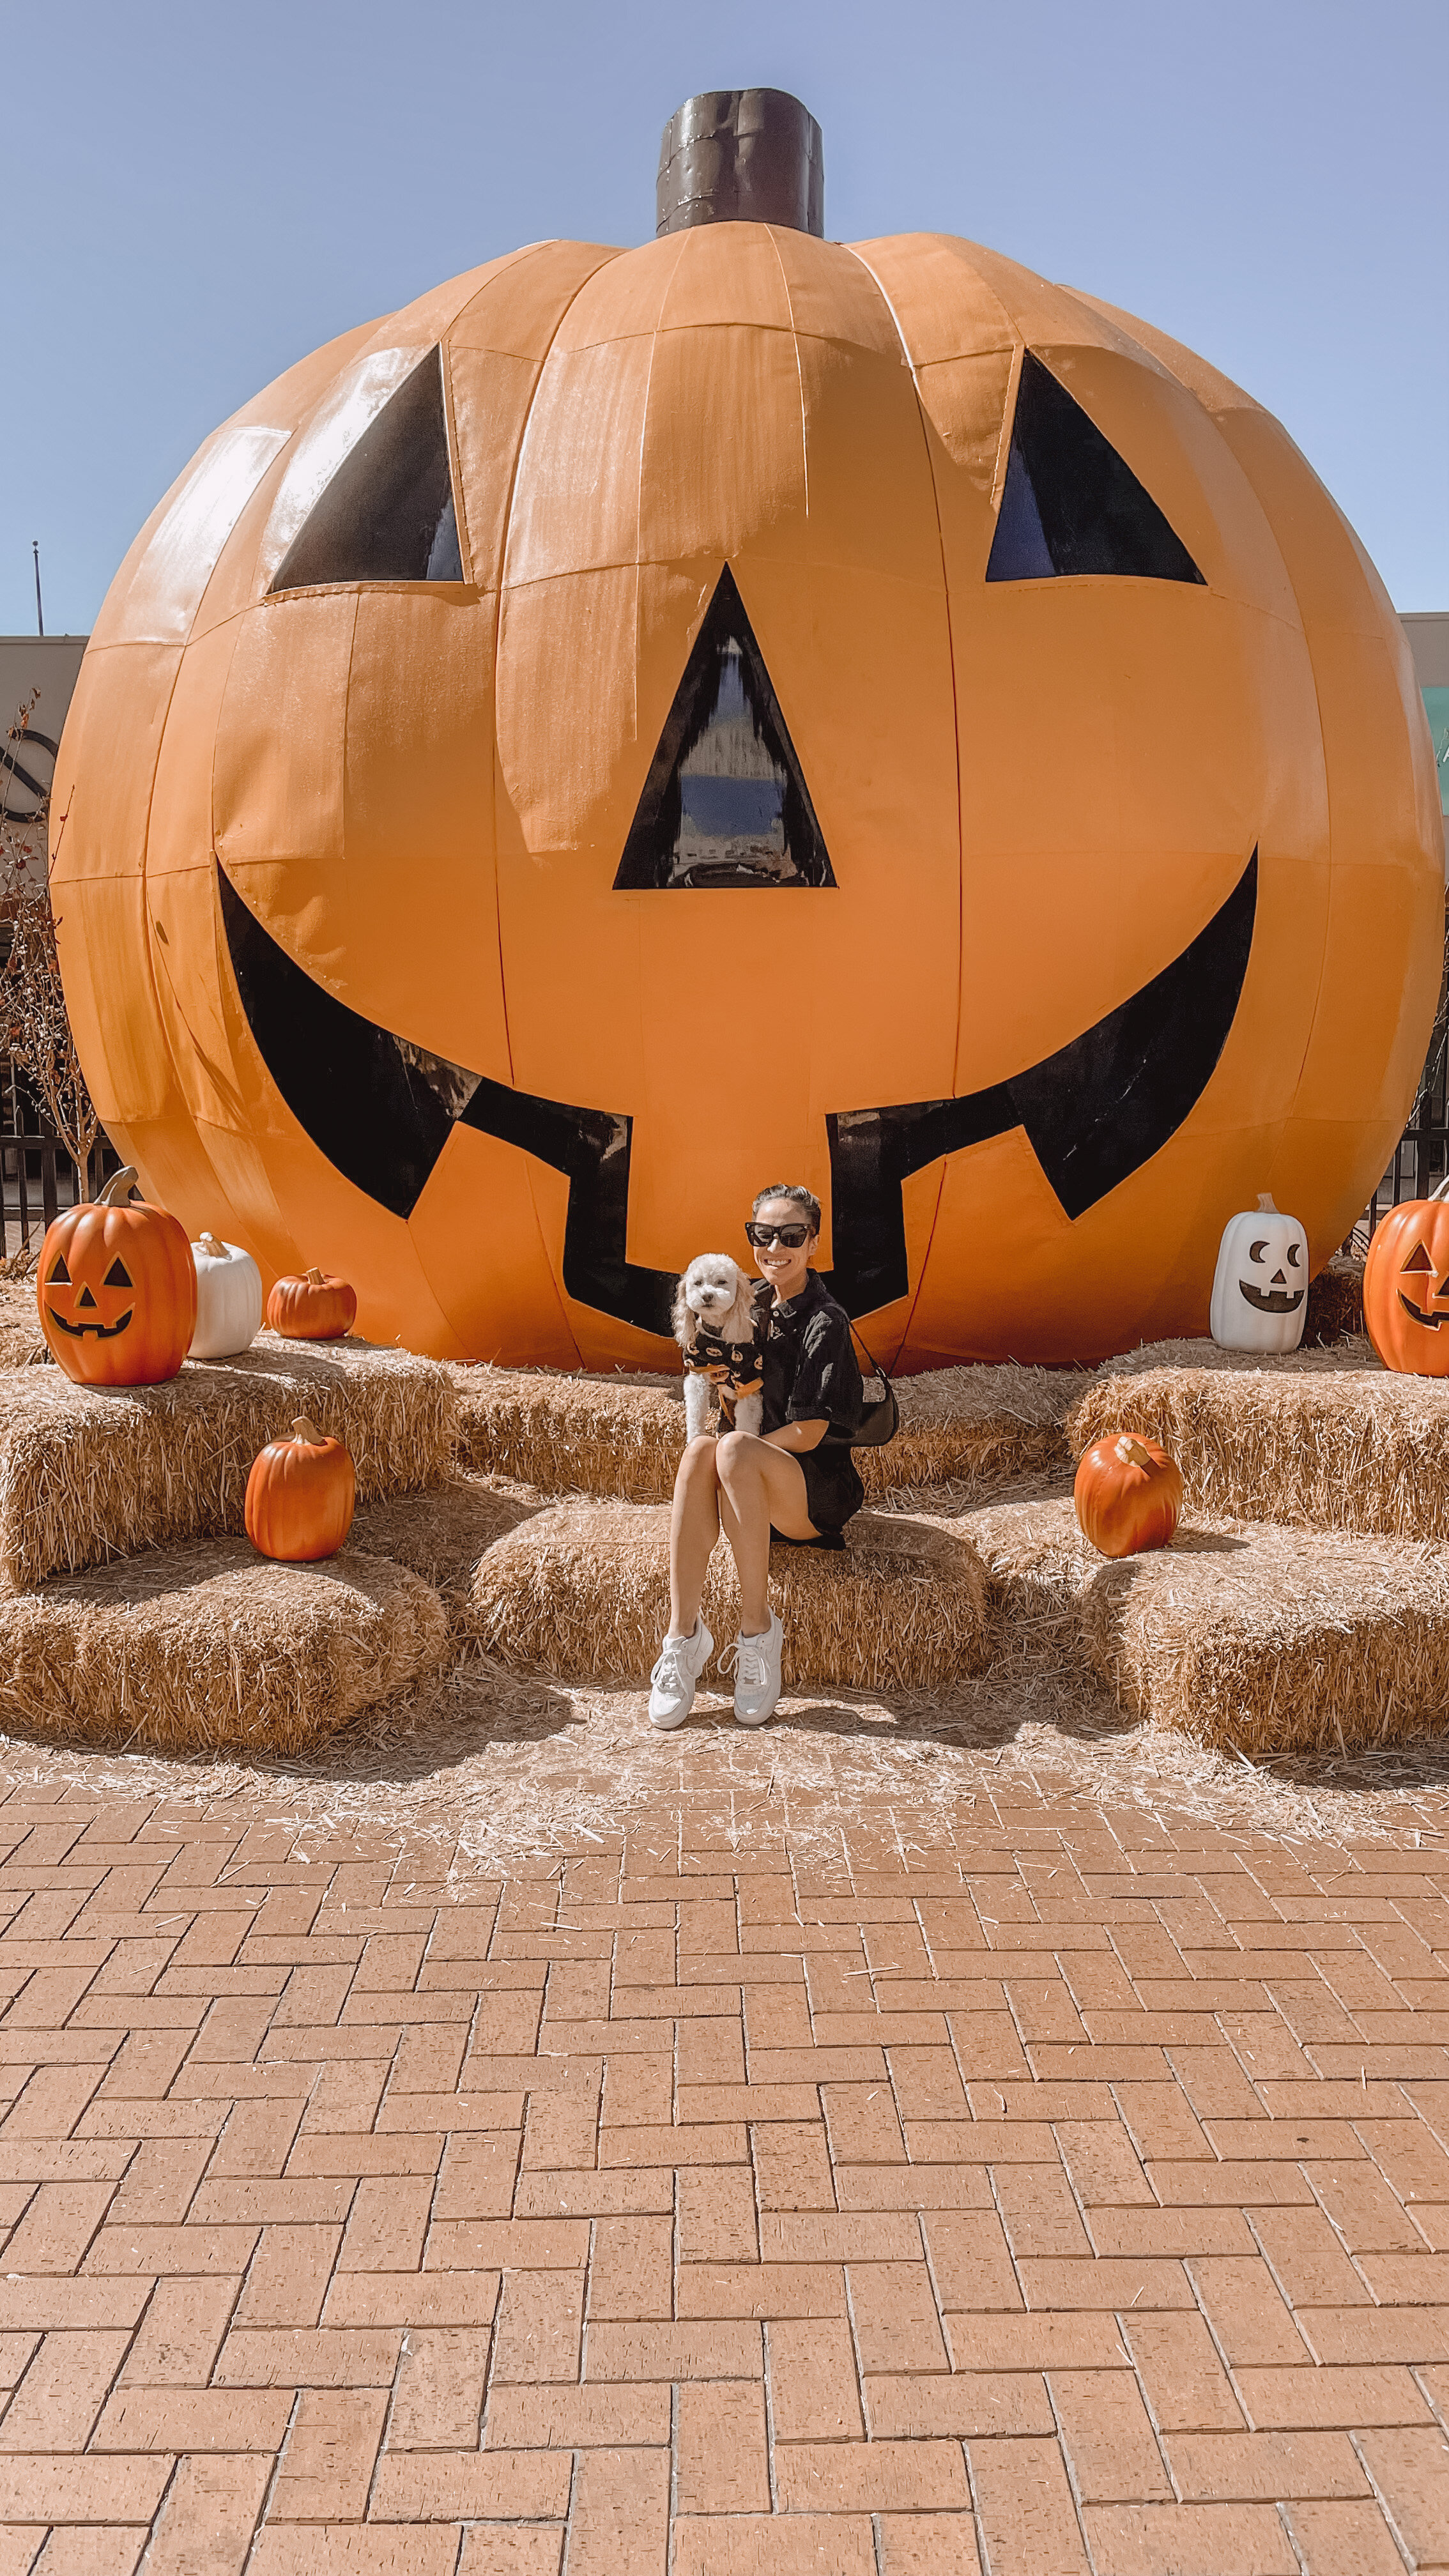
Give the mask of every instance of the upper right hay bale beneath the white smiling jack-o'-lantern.
[{"label": "upper right hay bale beneath the white smiling jack-o'-lantern", "polygon": [[1119,1430],[1160,1440],[1189,1507],[1214,1520],[1449,1538],[1449,1381],[1364,1365],[1359,1345],[1104,1373],[1067,1435],[1080,1453]]}]

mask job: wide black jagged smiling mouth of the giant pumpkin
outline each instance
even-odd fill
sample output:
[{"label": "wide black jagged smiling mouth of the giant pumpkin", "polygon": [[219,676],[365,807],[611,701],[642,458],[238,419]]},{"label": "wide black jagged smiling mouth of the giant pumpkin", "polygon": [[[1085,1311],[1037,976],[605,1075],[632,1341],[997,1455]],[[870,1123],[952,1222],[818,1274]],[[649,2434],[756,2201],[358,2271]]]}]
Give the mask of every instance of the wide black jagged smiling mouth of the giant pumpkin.
[{"label": "wide black jagged smiling mouth of the giant pumpkin", "polygon": [[[516,1092],[364,1020],[286,956],[222,868],[217,884],[248,1028],[317,1151],[402,1218],[454,1126],[534,1154],[570,1182],[567,1296],[668,1337],[678,1273],[627,1257],[634,1121]],[[1253,850],[1227,902],[1181,956],[1057,1054],[954,1100],[828,1115],[835,1267],[825,1278],[846,1311],[874,1314],[908,1293],[902,1182],[926,1164],[1024,1128],[1075,1221],[1158,1154],[1201,1100],[1227,1043],[1256,912]]]}]

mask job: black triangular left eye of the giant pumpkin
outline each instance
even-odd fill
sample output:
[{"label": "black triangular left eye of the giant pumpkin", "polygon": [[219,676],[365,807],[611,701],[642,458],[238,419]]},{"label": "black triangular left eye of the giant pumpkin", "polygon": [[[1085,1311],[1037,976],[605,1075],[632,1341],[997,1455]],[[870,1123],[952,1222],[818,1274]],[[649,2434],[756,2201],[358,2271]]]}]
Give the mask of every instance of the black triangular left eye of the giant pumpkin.
[{"label": "black triangular left eye of the giant pumpkin", "polygon": [[271,587],[462,582],[462,577],[443,353],[433,348],[343,456],[291,538]]}]

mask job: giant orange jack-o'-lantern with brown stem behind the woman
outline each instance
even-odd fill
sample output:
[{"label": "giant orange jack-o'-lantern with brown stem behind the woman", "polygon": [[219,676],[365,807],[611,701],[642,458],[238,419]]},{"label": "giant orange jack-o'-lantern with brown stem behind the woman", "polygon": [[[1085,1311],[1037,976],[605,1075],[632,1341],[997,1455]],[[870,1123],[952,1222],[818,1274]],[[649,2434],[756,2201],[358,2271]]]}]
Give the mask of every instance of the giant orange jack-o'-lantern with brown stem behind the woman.
[{"label": "giant orange jack-o'-lantern with brown stem behind the woman", "polygon": [[789,108],[683,111],[683,229],[304,358],[95,623],[90,1087],[376,1340],[657,1365],[786,1175],[887,1363],[1093,1358],[1207,1329],[1258,1190],[1320,1265],[1400,1131],[1441,819],[1354,531],[1152,327],[822,240],[802,111],[810,185],[750,193]]}]

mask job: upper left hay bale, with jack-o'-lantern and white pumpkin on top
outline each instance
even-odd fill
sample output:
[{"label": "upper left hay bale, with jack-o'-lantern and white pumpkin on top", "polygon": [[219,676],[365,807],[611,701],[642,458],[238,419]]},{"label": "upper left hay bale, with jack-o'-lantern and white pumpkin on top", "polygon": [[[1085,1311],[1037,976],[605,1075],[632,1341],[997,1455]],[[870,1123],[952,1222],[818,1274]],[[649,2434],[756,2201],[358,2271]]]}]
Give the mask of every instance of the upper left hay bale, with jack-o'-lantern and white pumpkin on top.
[{"label": "upper left hay bale, with jack-o'-lantern and white pumpkin on top", "polygon": [[438,1360],[369,1342],[281,1342],[186,1360],[170,1386],[10,1370],[0,1406],[0,1574],[15,1589],[131,1548],[242,1528],[248,1468],[294,1414],[345,1440],[358,1502],[438,1484],[454,1388]]}]

